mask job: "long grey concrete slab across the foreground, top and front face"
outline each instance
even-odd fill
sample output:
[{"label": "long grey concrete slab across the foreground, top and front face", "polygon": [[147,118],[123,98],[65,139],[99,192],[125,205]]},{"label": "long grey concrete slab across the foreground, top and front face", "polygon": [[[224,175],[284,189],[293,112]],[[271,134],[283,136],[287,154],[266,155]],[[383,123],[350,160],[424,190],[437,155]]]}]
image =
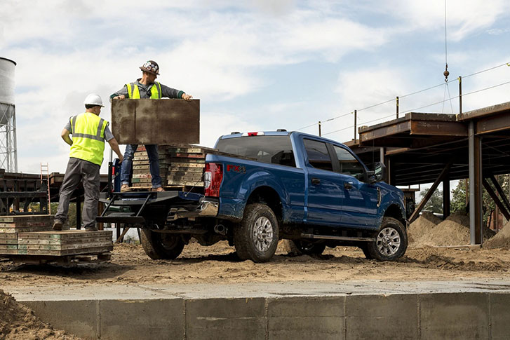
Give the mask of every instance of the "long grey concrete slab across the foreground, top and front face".
[{"label": "long grey concrete slab across the foreground, top and front face", "polygon": [[0,289],[86,339],[507,339],[506,280]]}]

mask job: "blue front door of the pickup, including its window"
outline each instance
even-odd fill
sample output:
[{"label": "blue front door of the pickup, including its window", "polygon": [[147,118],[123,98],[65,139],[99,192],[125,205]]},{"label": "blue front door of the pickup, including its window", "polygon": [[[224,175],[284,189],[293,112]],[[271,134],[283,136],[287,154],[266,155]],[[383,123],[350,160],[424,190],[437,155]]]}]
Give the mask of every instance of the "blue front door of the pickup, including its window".
[{"label": "blue front door of the pickup, including its window", "polygon": [[335,151],[335,171],[343,179],[342,207],[340,220],[342,226],[370,228],[375,226],[377,205],[380,193],[375,184],[367,181],[365,166],[352,152],[340,145],[333,145]]}]

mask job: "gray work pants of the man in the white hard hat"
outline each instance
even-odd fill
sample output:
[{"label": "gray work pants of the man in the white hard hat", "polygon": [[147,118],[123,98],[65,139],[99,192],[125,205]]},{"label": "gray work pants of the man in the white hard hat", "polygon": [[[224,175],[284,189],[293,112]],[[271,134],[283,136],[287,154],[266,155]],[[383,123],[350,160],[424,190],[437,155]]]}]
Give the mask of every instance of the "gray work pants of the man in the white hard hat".
[{"label": "gray work pants of the man in the white hard hat", "polygon": [[[69,158],[67,169],[65,170],[64,182],[60,186],[60,199],[58,200],[58,209],[55,214],[55,220],[65,223],[67,221],[67,212],[69,211],[69,200],[76,186],[83,182],[85,190],[85,199],[83,201],[83,226],[85,228],[95,228],[95,217],[98,215],[99,185],[100,185],[100,166],[79,158]],[[76,206],[76,208],[79,208]]]}]

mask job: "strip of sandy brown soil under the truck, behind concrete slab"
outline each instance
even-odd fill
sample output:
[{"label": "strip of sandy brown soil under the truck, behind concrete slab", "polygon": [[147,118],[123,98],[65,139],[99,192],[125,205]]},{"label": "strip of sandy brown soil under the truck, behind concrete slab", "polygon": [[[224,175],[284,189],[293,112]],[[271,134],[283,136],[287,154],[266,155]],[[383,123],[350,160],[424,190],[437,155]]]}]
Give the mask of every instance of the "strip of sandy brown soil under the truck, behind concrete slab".
[{"label": "strip of sandy brown soil under the truck, behind concrete slab", "polygon": [[293,256],[280,247],[266,264],[240,261],[226,242],[191,243],[175,260],[152,260],[140,245],[116,245],[105,264],[26,265],[0,261],[8,285],[115,283],[253,283],[342,280],[452,280],[510,278],[510,251],[502,249],[409,249],[396,262],[365,259],[352,247],[326,248],[319,257]]}]

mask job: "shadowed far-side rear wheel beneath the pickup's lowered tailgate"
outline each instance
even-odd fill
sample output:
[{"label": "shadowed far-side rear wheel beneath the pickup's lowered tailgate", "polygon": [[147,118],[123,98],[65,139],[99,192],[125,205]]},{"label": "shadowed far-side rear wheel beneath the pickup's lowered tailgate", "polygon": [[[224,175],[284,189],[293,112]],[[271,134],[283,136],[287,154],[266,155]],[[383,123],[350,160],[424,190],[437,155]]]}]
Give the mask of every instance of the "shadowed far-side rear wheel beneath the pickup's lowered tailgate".
[{"label": "shadowed far-side rear wheel beneath the pickup's lowered tailgate", "polygon": [[175,259],[182,252],[184,242],[180,236],[156,233],[150,229],[140,229],[142,247],[151,259]]}]

